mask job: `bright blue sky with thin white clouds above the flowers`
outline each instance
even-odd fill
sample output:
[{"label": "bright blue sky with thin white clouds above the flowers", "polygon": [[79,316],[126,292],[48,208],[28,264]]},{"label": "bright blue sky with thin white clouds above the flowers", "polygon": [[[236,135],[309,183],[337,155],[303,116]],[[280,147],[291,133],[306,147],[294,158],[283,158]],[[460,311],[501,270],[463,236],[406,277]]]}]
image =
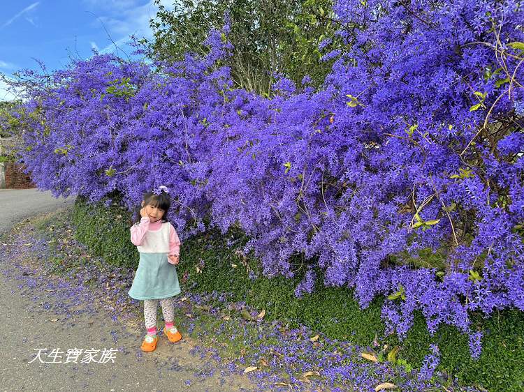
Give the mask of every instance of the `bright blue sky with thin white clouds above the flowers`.
[{"label": "bright blue sky with thin white clouds above the flowers", "polygon": [[[162,1],[170,8],[173,0]],[[129,36],[150,38],[153,0],[3,0],[0,13],[0,73],[10,77],[22,68],[64,68],[71,58],[87,59],[92,48],[127,54]],[[107,31],[106,31],[107,30]],[[123,55],[119,52],[119,55]],[[13,99],[0,81],[0,100]]]}]

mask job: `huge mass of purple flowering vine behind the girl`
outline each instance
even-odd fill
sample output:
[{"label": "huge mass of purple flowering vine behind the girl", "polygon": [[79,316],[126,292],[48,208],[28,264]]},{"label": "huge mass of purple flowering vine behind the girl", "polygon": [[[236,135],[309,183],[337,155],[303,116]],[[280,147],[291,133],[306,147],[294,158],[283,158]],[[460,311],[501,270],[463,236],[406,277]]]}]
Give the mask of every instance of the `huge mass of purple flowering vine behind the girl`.
[{"label": "huge mass of purple flowering vine behind the girl", "polygon": [[234,89],[227,18],[205,56],[29,71],[22,158],[40,188],[91,202],[131,209],[166,185],[182,241],[241,229],[264,276],[303,276],[296,296],[321,279],[363,308],[384,298],[386,334],[405,339],[421,314],[479,358],[472,312],[524,310],[521,2],[333,12],[345,46],[319,45],[335,59],[319,89]]}]

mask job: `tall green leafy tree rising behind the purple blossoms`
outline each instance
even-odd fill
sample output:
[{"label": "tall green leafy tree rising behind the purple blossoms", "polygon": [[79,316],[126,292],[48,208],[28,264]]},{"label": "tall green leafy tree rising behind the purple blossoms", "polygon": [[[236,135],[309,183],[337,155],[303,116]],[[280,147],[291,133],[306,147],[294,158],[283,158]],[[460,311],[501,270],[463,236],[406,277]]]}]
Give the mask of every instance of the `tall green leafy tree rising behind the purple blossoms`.
[{"label": "tall green leafy tree rising behind the purple blossoms", "polygon": [[205,53],[208,31],[220,29],[228,13],[227,39],[235,47],[228,66],[238,87],[269,93],[273,73],[296,83],[309,75],[318,86],[330,70],[331,61],[321,61],[318,46],[335,36],[331,0],[180,0],[173,10],[155,3],[150,56],[178,61],[186,52]]}]

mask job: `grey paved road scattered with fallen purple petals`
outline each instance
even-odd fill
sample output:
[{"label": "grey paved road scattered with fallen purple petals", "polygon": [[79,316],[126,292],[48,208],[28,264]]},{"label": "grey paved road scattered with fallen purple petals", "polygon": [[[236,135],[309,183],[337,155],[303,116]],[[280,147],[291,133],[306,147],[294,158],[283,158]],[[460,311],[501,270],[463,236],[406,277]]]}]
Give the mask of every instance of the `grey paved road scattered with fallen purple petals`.
[{"label": "grey paved road scattered with fallen purple petals", "polygon": [[[13,223],[72,203],[38,190],[0,190],[0,232]],[[27,234],[29,235],[29,234]],[[27,238],[30,238],[29,236]],[[114,321],[89,289],[46,276],[38,260],[24,261],[24,234],[0,243],[0,391],[252,391],[242,375],[221,373],[189,351],[189,338],[142,353],[145,331]],[[41,359],[39,349],[47,349]],[[48,356],[57,353],[56,363]],[[68,349],[82,349],[65,363]],[[81,363],[86,349],[118,349],[113,361]],[[42,351],[42,353],[44,353]],[[98,360],[98,362],[96,362]]]}]

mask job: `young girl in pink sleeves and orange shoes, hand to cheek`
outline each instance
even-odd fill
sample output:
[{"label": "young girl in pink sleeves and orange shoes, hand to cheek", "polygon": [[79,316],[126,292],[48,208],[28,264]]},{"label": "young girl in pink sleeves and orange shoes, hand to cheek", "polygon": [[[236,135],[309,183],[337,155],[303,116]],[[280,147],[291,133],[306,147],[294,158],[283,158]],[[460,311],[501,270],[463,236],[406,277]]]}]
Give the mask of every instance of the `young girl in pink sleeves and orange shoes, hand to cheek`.
[{"label": "young girl in pink sleeves and orange shoes, hand to cheek", "polygon": [[[140,252],[140,262],[129,296],[144,301],[144,319],[147,335],[141,349],[152,352],[157,348],[157,308],[162,306],[166,326],[163,333],[171,342],[182,339],[173,325],[175,318],[174,296],[180,294],[176,265],[179,262],[180,240],[175,227],[166,220],[170,207],[169,190],[160,186],[146,193],[131,227],[131,242]],[[140,220],[140,223],[138,223]]]}]

